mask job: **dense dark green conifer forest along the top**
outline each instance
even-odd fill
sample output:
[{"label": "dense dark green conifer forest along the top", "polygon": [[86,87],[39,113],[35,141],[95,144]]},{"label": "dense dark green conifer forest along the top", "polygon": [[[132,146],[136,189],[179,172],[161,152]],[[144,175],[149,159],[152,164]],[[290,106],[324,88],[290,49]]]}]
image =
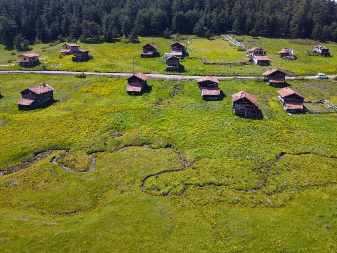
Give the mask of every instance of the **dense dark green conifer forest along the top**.
[{"label": "dense dark green conifer forest along the top", "polygon": [[1,44],[239,32],[337,41],[334,0],[0,0]]}]

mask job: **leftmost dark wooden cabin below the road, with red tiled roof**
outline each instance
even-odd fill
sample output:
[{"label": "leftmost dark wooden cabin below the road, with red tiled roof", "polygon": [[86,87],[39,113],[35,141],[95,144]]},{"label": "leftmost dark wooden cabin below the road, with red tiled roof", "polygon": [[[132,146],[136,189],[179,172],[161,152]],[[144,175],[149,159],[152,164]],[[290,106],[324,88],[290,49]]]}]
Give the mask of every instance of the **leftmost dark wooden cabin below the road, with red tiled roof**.
[{"label": "leftmost dark wooden cabin below the road, with red tiled roof", "polygon": [[33,109],[53,100],[54,88],[47,84],[27,88],[21,91],[22,98],[17,102],[19,109]]}]

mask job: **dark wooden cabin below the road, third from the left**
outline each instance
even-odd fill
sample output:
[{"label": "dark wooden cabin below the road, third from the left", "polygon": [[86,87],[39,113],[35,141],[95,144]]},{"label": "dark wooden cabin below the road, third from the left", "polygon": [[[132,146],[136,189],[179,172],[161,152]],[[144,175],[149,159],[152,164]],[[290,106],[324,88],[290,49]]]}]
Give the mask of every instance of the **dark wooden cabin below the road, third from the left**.
[{"label": "dark wooden cabin below the road, third from the left", "polygon": [[220,98],[219,81],[213,77],[201,77],[196,80],[204,100],[216,100]]}]

